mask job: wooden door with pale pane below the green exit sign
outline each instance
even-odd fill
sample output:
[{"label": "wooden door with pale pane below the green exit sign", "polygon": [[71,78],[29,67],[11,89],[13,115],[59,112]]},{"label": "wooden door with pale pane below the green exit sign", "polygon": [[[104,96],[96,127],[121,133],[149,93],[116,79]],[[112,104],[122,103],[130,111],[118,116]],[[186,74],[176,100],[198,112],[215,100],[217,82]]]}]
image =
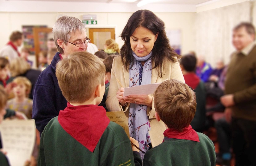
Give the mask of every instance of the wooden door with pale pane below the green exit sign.
[{"label": "wooden door with pale pane below the green exit sign", "polygon": [[105,41],[108,39],[115,40],[115,28],[89,28],[89,38],[98,49],[104,49]]}]

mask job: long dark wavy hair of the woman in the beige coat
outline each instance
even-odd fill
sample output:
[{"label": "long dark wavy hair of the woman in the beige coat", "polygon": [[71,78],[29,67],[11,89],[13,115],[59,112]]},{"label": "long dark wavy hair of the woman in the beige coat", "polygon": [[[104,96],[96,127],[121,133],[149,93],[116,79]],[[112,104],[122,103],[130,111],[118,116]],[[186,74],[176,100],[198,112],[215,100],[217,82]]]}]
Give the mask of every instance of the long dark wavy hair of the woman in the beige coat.
[{"label": "long dark wavy hair of the woman in the beige coat", "polygon": [[152,49],[152,60],[155,62],[152,69],[160,67],[161,70],[158,71],[158,75],[162,77],[162,65],[164,59],[168,59],[171,62],[177,62],[181,56],[178,55],[169,44],[170,41],[165,32],[164,22],[149,10],[136,11],[131,15],[126,26],[124,27],[122,34],[120,35],[124,41],[124,45],[120,49],[122,63],[126,66],[127,70],[129,69],[130,64],[131,66],[134,64],[130,45],[130,36],[134,33],[135,29],[140,26],[147,28],[155,35],[159,33]]}]

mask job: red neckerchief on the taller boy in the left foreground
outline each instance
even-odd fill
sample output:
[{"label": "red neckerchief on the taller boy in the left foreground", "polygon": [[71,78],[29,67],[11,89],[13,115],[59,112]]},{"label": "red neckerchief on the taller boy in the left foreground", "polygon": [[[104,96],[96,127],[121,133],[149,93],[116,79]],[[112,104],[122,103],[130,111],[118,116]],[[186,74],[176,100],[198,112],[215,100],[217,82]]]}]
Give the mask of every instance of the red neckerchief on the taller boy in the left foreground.
[{"label": "red neckerchief on the taller boy in the left foreground", "polygon": [[58,121],[68,134],[91,152],[110,122],[102,106],[73,106],[69,102],[67,107],[60,111]]}]

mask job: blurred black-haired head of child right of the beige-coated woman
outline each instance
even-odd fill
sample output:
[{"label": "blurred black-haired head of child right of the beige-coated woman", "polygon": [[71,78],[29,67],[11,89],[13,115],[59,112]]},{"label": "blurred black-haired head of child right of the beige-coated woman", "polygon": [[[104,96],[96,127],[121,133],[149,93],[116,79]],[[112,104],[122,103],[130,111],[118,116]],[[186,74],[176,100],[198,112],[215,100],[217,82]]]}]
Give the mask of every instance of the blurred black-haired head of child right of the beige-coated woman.
[{"label": "blurred black-haired head of child right of the beige-coated woman", "polygon": [[182,56],[180,59],[182,71],[193,72],[196,69],[196,57],[192,54]]}]

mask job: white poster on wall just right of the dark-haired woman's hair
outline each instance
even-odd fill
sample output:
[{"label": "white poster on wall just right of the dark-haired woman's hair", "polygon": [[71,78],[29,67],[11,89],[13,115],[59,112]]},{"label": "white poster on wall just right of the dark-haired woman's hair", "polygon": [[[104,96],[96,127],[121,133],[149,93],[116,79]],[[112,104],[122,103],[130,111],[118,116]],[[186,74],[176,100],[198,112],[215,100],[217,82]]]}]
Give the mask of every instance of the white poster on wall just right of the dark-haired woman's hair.
[{"label": "white poster on wall just right of the dark-haired woman's hair", "polygon": [[181,30],[166,30],[171,47],[177,54],[181,54]]}]

